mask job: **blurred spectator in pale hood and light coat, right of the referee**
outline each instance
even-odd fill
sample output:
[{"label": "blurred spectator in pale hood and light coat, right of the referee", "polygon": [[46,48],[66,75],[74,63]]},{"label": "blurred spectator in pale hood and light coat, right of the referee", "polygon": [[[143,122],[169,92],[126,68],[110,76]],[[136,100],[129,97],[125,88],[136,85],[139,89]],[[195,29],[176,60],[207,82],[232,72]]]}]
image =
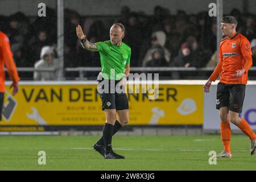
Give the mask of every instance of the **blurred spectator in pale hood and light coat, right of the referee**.
[{"label": "blurred spectator in pale hood and light coat, right of the referee", "polygon": [[142,66],[146,66],[147,62],[152,59],[152,53],[156,48],[162,47],[164,50],[164,57],[170,63],[171,53],[164,47],[166,44],[166,34],[163,31],[156,31],[152,34],[151,48],[147,50],[146,55],[142,61]]}]

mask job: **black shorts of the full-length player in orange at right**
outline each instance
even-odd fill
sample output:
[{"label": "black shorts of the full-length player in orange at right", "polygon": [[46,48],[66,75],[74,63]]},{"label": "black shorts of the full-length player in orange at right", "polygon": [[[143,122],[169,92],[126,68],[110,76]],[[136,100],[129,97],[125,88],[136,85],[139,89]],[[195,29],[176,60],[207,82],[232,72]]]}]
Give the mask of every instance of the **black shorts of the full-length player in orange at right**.
[{"label": "black shorts of the full-length player in orange at right", "polygon": [[245,84],[224,84],[219,82],[217,86],[216,109],[229,107],[229,110],[241,113],[244,98]]}]

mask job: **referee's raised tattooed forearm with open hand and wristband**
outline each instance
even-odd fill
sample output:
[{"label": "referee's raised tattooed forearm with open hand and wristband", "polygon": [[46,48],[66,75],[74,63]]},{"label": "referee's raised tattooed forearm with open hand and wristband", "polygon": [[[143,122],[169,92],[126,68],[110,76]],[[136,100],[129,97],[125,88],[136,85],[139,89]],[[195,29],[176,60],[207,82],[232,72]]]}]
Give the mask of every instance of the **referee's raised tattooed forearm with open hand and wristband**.
[{"label": "referee's raised tattooed forearm with open hand and wristband", "polygon": [[82,32],[82,27],[80,25],[76,27],[76,35],[80,39],[81,45],[84,49],[88,51],[98,51],[97,45],[89,42],[89,40],[86,39],[86,36]]}]

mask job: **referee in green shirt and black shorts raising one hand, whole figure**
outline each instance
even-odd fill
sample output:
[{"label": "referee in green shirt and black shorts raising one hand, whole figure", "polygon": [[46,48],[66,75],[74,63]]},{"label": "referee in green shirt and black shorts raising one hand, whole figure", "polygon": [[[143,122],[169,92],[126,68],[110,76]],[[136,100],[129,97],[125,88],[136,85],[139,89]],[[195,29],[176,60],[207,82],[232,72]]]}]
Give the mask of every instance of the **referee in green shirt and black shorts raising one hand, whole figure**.
[{"label": "referee in green shirt and black shorts raising one hand, whole figure", "polygon": [[[84,49],[98,51],[101,56],[102,69],[97,80],[99,81],[98,91],[104,90],[99,94],[102,110],[106,115],[106,123],[103,136],[93,144],[93,148],[105,159],[124,159],[124,156],[112,150],[112,136],[129,122],[129,104],[126,93],[116,90],[116,88],[125,90],[124,86],[130,73],[131,48],[122,42],[125,37],[125,27],[121,23],[114,23],[110,28],[110,40],[95,44],[86,39],[80,25],[76,27],[76,34]],[[102,81],[104,84],[100,86]],[[116,113],[118,119],[115,117]]]}]

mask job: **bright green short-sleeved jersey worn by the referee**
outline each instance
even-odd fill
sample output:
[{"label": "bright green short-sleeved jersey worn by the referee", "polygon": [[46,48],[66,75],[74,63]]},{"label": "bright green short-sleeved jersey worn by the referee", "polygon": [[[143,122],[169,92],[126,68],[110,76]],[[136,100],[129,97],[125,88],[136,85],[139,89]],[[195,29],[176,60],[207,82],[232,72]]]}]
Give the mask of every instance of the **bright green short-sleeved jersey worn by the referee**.
[{"label": "bright green short-sleeved jersey worn by the referee", "polygon": [[110,40],[96,43],[101,56],[101,72],[104,79],[121,80],[126,64],[130,64],[131,48],[123,43],[113,45]]}]

